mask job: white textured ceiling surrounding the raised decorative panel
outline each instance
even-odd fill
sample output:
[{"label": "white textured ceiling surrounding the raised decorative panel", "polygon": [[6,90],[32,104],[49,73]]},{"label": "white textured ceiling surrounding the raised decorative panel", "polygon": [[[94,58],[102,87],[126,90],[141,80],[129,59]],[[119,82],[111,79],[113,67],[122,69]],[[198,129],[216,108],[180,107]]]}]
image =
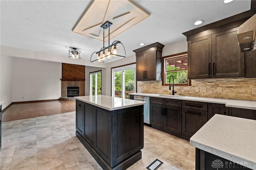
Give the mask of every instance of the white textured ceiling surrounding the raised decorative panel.
[{"label": "white textured ceiling surrounding the raised decorative panel", "polygon": [[[228,4],[223,0],[134,2],[150,17],[110,40],[121,41],[126,48],[126,56],[134,55],[132,50],[141,47],[138,43],[168,45],[186,40],[182,32],[250,10],[250,0],[234,0]],[[64,57],[68,57],[69,47],[77,47],[81,49],[80,57],[89,60],[92,52],[102,47],[102,41],[72,32],[88,4],[88,0],[0,0],[0,43]],[[205,22],[194,26],[196,20]]]}]

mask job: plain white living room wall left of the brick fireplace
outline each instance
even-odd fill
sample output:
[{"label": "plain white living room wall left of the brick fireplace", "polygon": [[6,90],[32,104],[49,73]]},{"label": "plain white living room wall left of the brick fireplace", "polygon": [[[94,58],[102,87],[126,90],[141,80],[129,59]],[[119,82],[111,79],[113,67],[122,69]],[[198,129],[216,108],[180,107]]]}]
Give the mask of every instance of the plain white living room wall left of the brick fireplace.
[{"label": "plain white living room wall left of the brick fireplace", "polygon": [[13,57],[12,73],[12,102],[61,96],[61,63]]}]

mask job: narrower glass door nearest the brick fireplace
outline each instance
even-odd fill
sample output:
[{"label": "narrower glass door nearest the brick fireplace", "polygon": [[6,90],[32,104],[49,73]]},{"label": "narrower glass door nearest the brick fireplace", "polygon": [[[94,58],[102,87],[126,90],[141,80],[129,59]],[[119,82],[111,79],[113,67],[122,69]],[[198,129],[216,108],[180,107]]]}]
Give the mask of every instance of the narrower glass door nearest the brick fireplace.
[{"label": "narrower glass door nearest the brick fireplace", "polygon": [[101,71],[90,73],[90,95],[101,95]]}]

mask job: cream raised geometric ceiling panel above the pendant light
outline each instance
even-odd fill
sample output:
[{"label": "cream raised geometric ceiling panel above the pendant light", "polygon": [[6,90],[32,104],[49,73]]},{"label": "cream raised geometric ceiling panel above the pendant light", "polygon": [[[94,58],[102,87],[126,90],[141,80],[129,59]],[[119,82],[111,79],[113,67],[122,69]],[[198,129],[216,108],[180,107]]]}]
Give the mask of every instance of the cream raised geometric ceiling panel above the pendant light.
[{"label": "cream raised geometric ceiling panel above the pendant light", "polygon": [[[106,21],[112,23],[110,26],[110,39],[112,39],[149,16],[148,12],[131,0],[94,0],[72,31],[103,41],[101,26]],[[104,40],[108,41],[108,28],[105,30]]]}]

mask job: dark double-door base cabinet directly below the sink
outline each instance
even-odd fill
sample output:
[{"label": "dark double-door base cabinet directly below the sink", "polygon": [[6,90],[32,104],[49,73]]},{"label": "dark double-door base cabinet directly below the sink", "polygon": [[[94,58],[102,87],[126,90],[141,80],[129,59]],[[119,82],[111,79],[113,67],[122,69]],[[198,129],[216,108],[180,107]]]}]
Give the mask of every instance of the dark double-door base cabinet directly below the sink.
[{"label": "dark double-door base cabinet directly below the sink", "polygon": [[[160,103],[170,103],[172,105],[172,99],[161,99],[159,98]],[[161,102],[162,100],[162,102]],[[152,101],[152,100],[151,100]],[[174,100],[177,102],[177,100]],[[153,100],[154,102],[154,100]],[[181,105],[181,101],[180,102]],[[159,101],[157,101],[159,103]],[[181,116],[182,109],[181,107],[170,106],[168,104],[161,105],[150,103],[150,124],[154,128],[160,130],[181,134]]]}]

